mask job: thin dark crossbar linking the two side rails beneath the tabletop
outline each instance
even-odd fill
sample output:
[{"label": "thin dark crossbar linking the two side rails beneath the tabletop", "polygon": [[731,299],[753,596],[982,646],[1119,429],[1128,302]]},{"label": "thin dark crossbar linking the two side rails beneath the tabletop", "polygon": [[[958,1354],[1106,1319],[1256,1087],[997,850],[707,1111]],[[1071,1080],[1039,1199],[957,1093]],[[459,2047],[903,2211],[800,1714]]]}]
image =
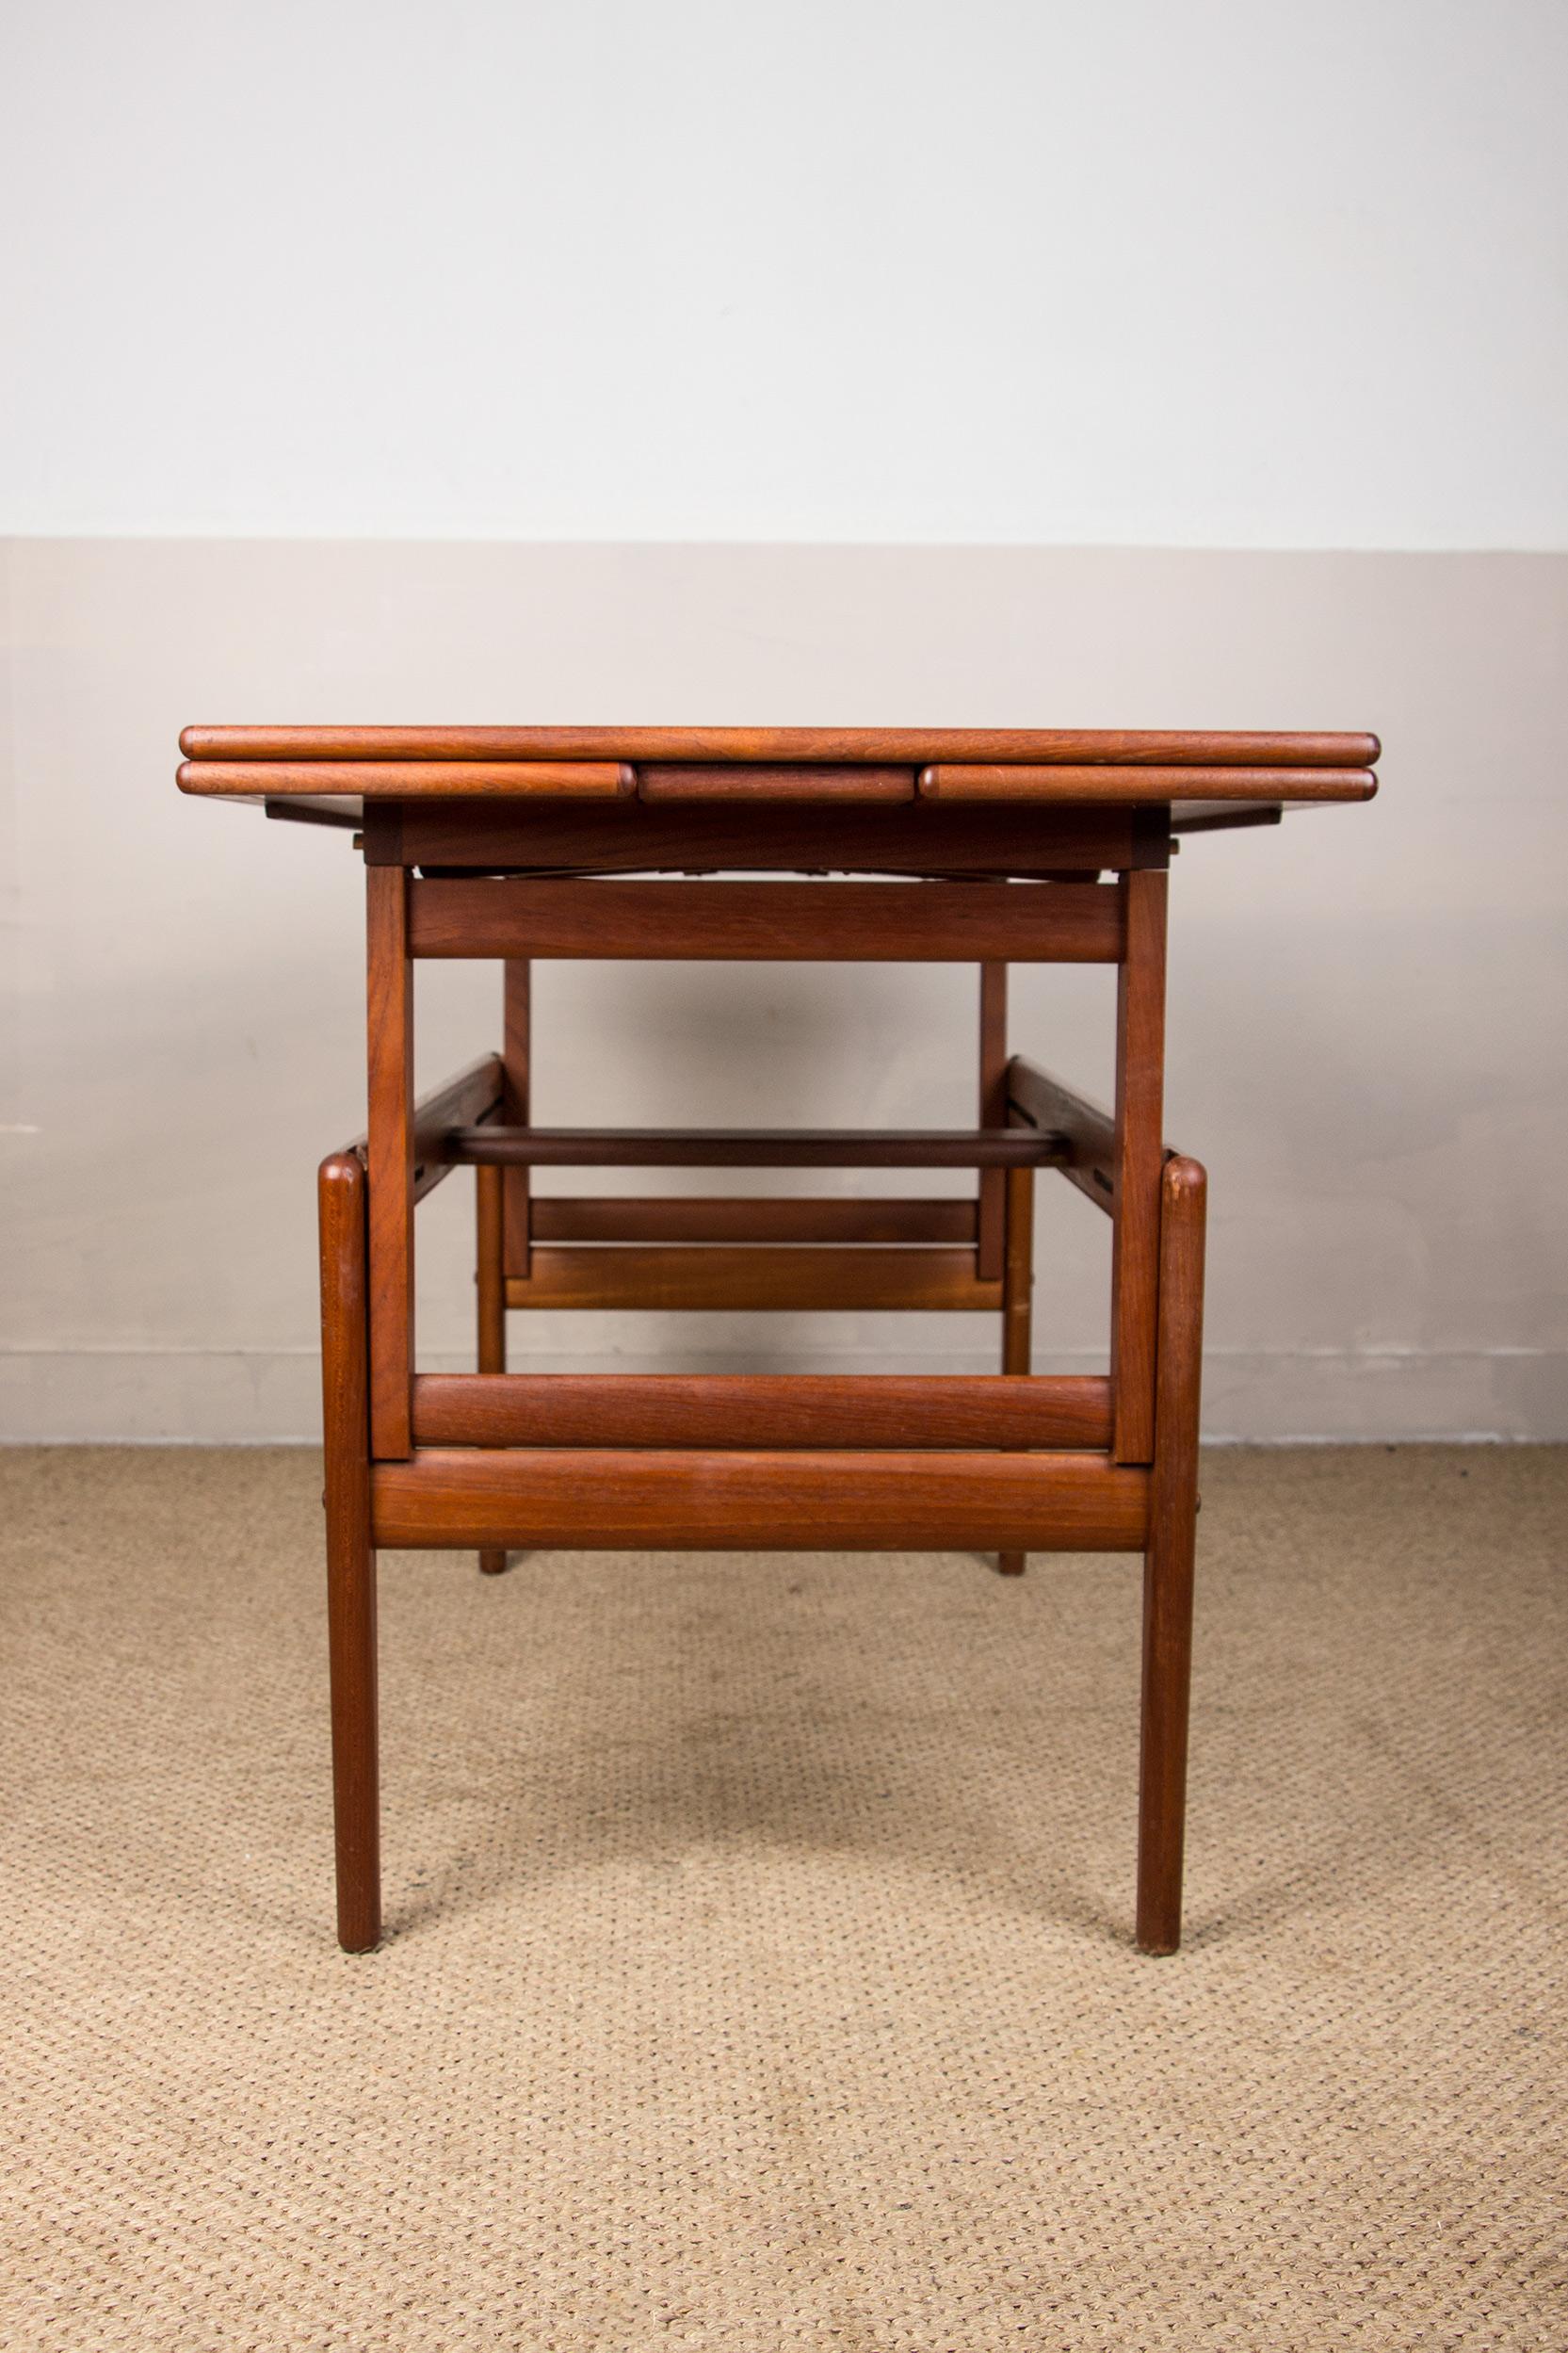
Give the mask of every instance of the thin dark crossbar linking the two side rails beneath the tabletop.
[{"label": "thin dark crossbar linking the two side rails beneath the tabletop", "polygon": [[1067,1139],[1032,1127],[451,1127],[456,1167],[1018,1169],[1053,1167]]}]

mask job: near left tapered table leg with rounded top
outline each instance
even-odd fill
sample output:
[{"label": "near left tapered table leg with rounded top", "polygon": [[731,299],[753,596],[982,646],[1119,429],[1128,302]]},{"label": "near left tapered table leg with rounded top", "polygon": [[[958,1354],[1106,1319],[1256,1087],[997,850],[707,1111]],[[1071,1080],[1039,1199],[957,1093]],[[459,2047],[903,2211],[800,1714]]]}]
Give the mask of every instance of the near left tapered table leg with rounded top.
[{"label": "near left tapered table leg with rounded top", "polygon": [[320,1169],[322,1435],[327,1449],[327,1642],[339,1944],[381,1937],[381,1793],[376,1765],[376,1553],[369,1515],[369,1351],[364,1165],[334,1153]]}]

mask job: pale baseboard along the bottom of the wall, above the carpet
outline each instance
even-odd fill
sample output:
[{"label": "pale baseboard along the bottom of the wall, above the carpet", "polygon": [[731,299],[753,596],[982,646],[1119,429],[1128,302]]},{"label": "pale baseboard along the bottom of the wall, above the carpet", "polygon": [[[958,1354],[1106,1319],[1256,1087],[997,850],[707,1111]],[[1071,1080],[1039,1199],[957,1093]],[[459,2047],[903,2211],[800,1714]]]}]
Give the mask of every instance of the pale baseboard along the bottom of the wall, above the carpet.
[{"label": "pale baseboard along the bottom of the wall, above the carpet", "polygon": [[[771,1372],[994,1372],[994,1348],[940,1355],[778,1348]],[[1098,1358],[1041,1355],[1037,1372]],[[755,1353],[529,1351],[529,1372],[748,1372]],[[430,1372],[470,1372],[435,1355]],[[1481,1402],[1481,1412],[1476,1405]],[[82,1348],[0,1355],[0,1431],[16,1445],[313,1445],[320,1367],[308,1351]],[[1204,1362],[1211,1442],[1568,1440],[1568,1351],[1248,1351]]]}]

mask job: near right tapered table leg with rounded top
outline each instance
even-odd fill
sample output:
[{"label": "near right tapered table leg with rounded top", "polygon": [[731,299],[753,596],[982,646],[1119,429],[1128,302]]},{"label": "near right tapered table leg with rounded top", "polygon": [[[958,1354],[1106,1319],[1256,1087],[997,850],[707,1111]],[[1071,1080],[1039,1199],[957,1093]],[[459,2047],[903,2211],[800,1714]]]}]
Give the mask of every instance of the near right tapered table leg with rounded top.
[{"label": "near right tapered table leg with rounded top", "polygon": [[1143,1560],[1138,1944],[1145,1953],[1175,1953],[1182,1941],[1206,1193],[1208,1179],[1197,1160],[1166,1162],[1159,1217],[1154,1473],[1150,1548]]}]

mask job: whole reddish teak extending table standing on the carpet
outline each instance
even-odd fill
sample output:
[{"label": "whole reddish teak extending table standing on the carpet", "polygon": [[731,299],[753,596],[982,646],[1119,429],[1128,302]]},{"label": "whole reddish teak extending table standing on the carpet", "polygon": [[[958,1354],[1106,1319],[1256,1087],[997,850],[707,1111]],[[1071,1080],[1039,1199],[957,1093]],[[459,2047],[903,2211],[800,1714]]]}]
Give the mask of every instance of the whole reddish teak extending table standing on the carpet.
[{"label": "whole reddish teak extending table standing on the carpet", "polygon": [[[320,1169],[339,1941],[381,1937],[376,1546],[1145,1558],[1138,1944],[1180,1941],[1204,1191],[1164,1144],[1173,835],[1368,800],[1368,734],[188,727],[188,793],[364,847],[369,1125]],[[745,875],[745,880],[719,880]],[[752,880],[806,875],[809,880]],[[853,875],[856,880],[832,880]],[[621,880],[616,880],[621,878]],[[628,880],[637,878],[637,880]],[[503,1047],[414,1101],[414,965]],[[536,1127],[534,958],[980,967],[971,1129]],[[1006,1047],[1006,967],[1117,967],[1114,1111]],[[475,1169],[475,1374],[421,1374],[414,1207]],[[971,1200],[529,1200],[534,1167],[959,1167]],[[1110,1365],[1030,1372],[1034,1172],[1112,1219]],[[508,1308],[994,1308],[1001,1372],[508,1374]]]}]

